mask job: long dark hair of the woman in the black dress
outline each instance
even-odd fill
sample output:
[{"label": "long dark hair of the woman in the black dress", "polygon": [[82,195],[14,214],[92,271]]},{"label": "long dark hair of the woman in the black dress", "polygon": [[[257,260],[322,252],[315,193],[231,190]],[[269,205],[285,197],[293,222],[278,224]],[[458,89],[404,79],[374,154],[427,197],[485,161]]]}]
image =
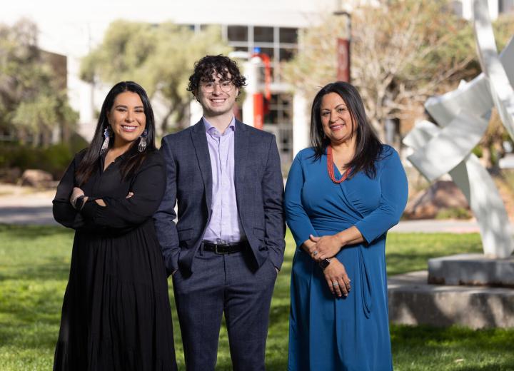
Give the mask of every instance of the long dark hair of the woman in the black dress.
[{"label": "long dark hair of the woman in the black dress", "polygon": [[[89,148],[87,148],[86,155],[84,156],[84,158],[82,158],[79,168],[77,168],[77,171],[75,173],[76,180],[79,183],[79,185],[86,183],[99,166],[98,161],[100,158],[100,148],[102,146],[102,143],[104,143],[104,130],[106,128],[109,128],[107,113],[111,111],[116,96],[118,96],[120,93],[124,93],[125,91],[131,91],[132,93],[138,94],[139,98],[141,98],[141,101],[143,102],[143,110],[146,116],[147,136],[145,151],[139,152],[139,141],[134,141],[129,150],[126,151],[126,153],[124,153],[124,156],[120,164],[122,177],[126,178],[131,176],[133,172],[136,171],[139,166],[141,166],[141,163],[143,163],[144,159],[146,158],[146,155],[152,151],[156,151],[155,119],[153,118],[153,110],[151,108],[150,100],[148,99],[146,91],[138,83],[135,83],[133,81],[121,81],[119,83],[116,83],[116,85],[111,88],[109,93],[107,93],[104,103],[102,104],[99,121],[96,124],[93,140],[91,141]],[[114,138],[111,137],[111,141],[109,141],[109,148],[111,148],[113,144]]]}]

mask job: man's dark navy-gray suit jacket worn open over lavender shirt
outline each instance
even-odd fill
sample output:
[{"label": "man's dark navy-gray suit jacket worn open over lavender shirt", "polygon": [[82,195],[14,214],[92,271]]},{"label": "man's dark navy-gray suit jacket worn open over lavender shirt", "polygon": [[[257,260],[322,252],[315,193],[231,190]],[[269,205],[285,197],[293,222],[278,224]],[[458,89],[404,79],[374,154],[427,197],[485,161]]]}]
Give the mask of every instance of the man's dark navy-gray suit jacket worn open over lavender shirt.
[{"label": "man's dark navy-gray suit jacket worn open over lavender shirt", "polygon": [[[211,218],[212,171],[205,126],[165,136],[166,193],[153,218],[168,275],[193,272],[193,257]],[[281,268],[285,248],[283,181],[275,136],[236,120],[234,178],[239,220],[250,243],[255,268],[267,259]],[[178,222],[174,210],[178,203]]]}]

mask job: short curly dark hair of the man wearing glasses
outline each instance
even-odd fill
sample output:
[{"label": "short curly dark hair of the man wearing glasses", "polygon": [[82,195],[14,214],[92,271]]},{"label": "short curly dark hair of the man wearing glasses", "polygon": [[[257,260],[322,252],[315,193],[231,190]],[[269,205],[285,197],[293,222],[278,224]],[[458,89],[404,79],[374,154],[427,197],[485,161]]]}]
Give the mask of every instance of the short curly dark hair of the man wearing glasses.
[{"label": "short curly dark hair of the man wearing glasses", "polygon": [[[195,63],[193,74],[189,76],[188,91],[196,96],[200,83],[202,81],[213,81],[212,76],[215,73],[220,74],[227,81],[232,81],[234,86],[239,89],[239,93],[241,93],[241,87],[246,85],[246,78],[241,75],[236,61],[219,54],[217,56],[204,56]],[[229,74],[230,78],[228,78]]]}]

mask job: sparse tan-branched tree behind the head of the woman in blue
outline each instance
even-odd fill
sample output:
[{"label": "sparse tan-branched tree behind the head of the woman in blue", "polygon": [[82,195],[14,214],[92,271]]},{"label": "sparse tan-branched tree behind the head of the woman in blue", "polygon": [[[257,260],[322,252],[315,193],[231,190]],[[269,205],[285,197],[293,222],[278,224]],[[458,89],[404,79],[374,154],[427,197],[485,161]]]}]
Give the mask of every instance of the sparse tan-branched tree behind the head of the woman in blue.
[{"label": "sparse tan-branched tree behind the head of the woman in blue", "polygon": [[[351,82],[382,140],[386,121],[398,125],[422,109],[428,96],[479,72],[470,24],[449,9],[446,1],[393,0],[352,14]],[[344,17],[327,16],[321,26],[306,29],[286,67],[288,81],[308,96],[334,81],[336,38],[347,36],[346,28]]]}]

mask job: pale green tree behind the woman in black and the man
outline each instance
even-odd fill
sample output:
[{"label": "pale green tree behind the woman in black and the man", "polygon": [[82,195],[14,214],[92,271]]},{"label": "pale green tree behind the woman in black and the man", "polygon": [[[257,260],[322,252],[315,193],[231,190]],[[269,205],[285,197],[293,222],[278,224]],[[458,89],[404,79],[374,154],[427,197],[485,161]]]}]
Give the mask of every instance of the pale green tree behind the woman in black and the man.
[{"label": "pale green tree behind the woman in black and the man", "polygon": [[206,54],[226,54],[231,49],[221,40],[218,27],[198,33],[188,26],[169,22],[152,25],[115,21],[102,43],[81,64],[81,78],[90,83],[133,80],[151,98],[166,103],[163,132],[173,119],[177,128],[188,125],[191,93],[186,88],[193,63]]}]

